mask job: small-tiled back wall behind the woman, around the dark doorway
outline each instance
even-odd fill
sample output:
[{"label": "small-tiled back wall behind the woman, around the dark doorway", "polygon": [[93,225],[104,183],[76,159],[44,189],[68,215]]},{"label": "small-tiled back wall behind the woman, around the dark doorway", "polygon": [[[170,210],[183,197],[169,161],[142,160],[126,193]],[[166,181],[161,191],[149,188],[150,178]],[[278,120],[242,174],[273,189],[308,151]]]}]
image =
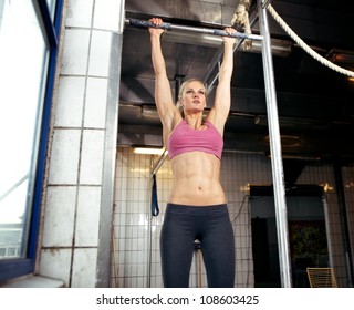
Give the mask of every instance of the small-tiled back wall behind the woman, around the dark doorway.
[{"label": "small-tiled back wall behind the woman, around the dark doorway", "polygon": [[[131,148],[118,148],[114,216],[115,251],[112,265],[113,287],[163,287],[159,234],[173,176],[167,158],[157,173],[160,214],[157,217],[149,217],[152,186],[149,172],[157,158],[152,155],[134,154]],[[354,197],[353,169],[350,169],[350,172],[346,174],[347,178],[352,179],[352,185],[347,188],[352,192],[347,193],[347,199],[352,206]],[[272,183],[271,177],[270,161],[262,155],[235,153],[223,153],[222,155],[221,183],[229,200],[229,213],[233,224],[235,286],[239,288],[253,287],[254,285],[250,208],[247,199],[248,185],[270,185]],[[346,183],[350,184],[348,180]],[[298,179],[298,184],[325,185],[327,188],[327,221],[333,265],[339,283],[346,287],[346,261],[343,251],[333,169],[330,165],[306,166]],[[353,207],[351,207],[351,220],[353,227]],[[152,244],[149,245],[149,242]],[[192,261],[190,287],[200,285],[199,268],[199,258],[196,254]],[[201,285],[206,287],[207,280],[202,265],[201,275]]]}]

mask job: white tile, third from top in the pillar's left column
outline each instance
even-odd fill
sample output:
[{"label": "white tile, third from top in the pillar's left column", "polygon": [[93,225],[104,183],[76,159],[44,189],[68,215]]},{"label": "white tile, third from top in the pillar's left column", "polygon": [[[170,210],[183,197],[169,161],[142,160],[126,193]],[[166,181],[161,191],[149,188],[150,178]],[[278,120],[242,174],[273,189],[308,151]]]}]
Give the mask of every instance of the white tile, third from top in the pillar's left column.
[{"label": "white tile, third from top in the pillar's left column", "polygon": [[84,78],[61,78],[55,111],[55,126],[81,127],[85,92]]}]

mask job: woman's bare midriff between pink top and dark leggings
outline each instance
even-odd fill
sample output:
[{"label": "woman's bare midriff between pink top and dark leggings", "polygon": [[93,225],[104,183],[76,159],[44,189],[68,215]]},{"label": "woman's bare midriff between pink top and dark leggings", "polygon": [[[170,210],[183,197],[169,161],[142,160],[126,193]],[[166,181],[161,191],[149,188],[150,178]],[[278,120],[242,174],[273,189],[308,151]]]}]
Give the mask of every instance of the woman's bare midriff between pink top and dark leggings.
[{"label": "woman's bare midriff between pink top and dark leggings", "polygon": [[209,206],[226,204],[221,187],[220,159],[205,152],[188,152],[170,161],[174,185],[169,203]]}]

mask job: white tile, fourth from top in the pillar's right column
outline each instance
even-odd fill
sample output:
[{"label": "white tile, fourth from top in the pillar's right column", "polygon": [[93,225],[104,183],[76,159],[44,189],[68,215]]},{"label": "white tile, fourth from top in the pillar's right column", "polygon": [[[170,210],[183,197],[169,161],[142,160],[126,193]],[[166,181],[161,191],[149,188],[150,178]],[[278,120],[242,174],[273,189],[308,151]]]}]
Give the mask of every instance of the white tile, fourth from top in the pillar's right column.
[{"label": "white tile, fourth from top in the pillar's right column", "polygon": [[104,131],[85,130],[83,133],[80,184],[101,185]]}]

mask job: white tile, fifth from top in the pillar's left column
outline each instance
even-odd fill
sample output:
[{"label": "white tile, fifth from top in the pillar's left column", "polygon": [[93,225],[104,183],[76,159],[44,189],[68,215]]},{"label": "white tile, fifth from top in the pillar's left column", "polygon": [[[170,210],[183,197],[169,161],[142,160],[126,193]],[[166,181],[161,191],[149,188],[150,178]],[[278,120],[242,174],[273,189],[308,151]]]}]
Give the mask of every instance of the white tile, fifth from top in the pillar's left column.
[{"label": "white tile, fifth from top in the pillar's left column", "polygon": [[76,187],[48,187],[43,225],[43,247],[72,246],[75,204]]}]

